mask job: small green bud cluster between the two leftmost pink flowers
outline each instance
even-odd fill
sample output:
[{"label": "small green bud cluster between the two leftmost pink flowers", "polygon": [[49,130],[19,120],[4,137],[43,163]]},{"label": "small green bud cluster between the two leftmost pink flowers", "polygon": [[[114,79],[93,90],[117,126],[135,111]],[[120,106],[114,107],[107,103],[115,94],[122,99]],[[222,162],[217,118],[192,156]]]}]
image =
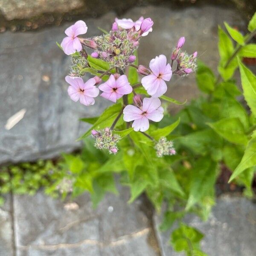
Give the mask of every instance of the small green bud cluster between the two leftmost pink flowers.
[{"label": "small green bud cluster between the two leftmost pink flowers", "polygon": [[82,77],[85,74],[84,68],[88,67],[87,54],[84,50],[72,55],[72,65],[70,65],[70,76]]}]

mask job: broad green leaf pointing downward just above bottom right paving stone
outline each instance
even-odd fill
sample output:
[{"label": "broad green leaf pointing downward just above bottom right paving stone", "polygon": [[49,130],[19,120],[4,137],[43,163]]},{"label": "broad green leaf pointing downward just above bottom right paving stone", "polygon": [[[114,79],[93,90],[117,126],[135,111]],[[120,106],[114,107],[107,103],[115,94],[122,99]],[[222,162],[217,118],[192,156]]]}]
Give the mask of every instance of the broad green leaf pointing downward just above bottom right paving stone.
[{"label": "broad green leaf pointing downward just above bottom right paving stone", "polygon": [[212,162],[209,157],[200,158],[197,160],[192,172],[193,176],[186,210],[189,210],[212,190],[217,175],[216,163]]}]

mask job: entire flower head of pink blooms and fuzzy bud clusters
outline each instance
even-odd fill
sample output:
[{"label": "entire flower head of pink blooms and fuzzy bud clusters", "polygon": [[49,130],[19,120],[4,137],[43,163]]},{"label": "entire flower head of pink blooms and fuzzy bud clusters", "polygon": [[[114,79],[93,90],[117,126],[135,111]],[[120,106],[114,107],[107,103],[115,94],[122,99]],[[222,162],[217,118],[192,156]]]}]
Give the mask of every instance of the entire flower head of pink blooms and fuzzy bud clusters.
[{"label": "entire flower head of pink blooms and fuzzy bud clusters", "polygon": [[[70,84],[68,87],[70,98],[89,106],[95,103],[95,98],[100,91],[100,96],[115,103],[123,97],[122,110],[111,129],[114,128],[122,113],[124,121],[128,122],[127,127],[131,126],[134,131],[143,133],[147,131],[149,120],[160,122],[163,119],[164,109],[159,97],[167,91],[166,82],[171,80],[173,74],[184,76],[196,69],[197,52],[188,55],[181,51],[185,43],[184,37],[177,42],[171,54],[170,63],[166,56],[161,54],[151,59],[149,67],[133,64],[136,61],[134,52],[139,47],[140,39],[152,31],[153,24],[151,18],[140,17],[135,22],[131,19],[116,18],[109,33],[91,38],[79,36],[87,32],[87,25],[82,20],[65,30],[67,37],[61,42],[61,47],[67,55],[72,56],[73,62],[70,76],[65,78]],[[97,69],[92,58],[88,59],[87,47],[93,50],[90,55],[92,58],[108,63],[108,70]],[[176,70],[172,70],[174,61],[177,62]],[[137,73],[143,76],[140,83],[133,86],[130,84],[125,75],[127,66],[136,68]],[[116,70],[116,73],[113,70]],[[96,76],[84,82],[82,77],[86,72]],[[106,77],[108,77],[107,80],[105,80]],[[102,82],[102,79],[105,82]],[[144,87],[150,97],[136,93],[136,88],[140,86]],[[128,102],[128,100],[131,101],[131,97],[128,97],[130,93],[134,94],[133,104]],[[111,129],[105,128],[102,132],[93,130],[92,136],[95,138],[96,148],[105,148],[110,153],[116,154],[118,151],[116,143],[120,137]],[[172,142],[168,142],[166,138],[161,138],[155,148],[158,156],[175,154]]]}]

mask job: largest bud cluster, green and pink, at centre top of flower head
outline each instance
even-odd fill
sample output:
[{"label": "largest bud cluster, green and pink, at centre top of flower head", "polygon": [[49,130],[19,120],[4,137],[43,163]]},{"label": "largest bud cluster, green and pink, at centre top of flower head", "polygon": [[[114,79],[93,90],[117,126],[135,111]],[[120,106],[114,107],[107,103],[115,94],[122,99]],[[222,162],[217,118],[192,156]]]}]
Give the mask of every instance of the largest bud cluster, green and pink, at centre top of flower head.
[{"label": "largest bud cluster, green and pink, at centre top of flower head", "polygon": [[133,52],[139,47],[139,38],[136,31],[119,31],[114,26],[110,33],[90,39],[97,45],[92,57],[108,61],[110,67],[123,69],[136,60]]}]

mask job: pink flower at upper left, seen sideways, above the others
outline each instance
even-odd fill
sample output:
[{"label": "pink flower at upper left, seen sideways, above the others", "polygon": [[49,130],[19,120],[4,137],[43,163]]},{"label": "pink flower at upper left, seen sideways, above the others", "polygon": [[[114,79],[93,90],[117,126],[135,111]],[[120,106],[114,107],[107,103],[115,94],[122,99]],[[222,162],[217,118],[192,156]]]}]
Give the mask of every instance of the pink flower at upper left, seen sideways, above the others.
[{"label": "pink flower at upper left, seen sideways, above the others", "polygon": [[65,30],[67,37],[62,40],[61,47],[67,55],[81,51],[82,44],[77,36],[85,34],[86,32],[87,26],[82,20],[77,21],[74,25]]}]

